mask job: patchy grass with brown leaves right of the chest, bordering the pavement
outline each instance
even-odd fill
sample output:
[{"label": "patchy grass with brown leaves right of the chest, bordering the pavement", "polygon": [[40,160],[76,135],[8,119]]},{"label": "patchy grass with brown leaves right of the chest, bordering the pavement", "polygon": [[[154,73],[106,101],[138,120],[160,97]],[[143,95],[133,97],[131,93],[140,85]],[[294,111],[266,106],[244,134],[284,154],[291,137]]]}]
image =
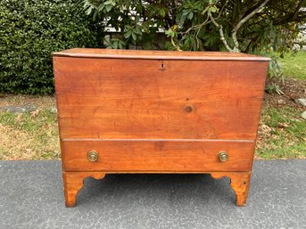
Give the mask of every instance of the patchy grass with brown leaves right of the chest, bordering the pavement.
[{"label": "patchy grass with brown leaves right of the chest, bordering the pavement", "polygon": [[265,106],[256,149],[260,159],[306,159],[306,121],[291,107]]}]

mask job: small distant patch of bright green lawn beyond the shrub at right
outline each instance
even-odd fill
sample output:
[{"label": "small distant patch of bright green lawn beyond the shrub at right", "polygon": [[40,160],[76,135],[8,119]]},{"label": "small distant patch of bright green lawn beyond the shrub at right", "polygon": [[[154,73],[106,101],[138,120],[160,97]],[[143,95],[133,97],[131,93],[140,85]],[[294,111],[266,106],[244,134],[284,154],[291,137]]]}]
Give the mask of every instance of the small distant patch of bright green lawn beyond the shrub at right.
[{"label": "small distant patch of bright green lawn beyond the shrub at right", "polygon": [[285,77],[306,79],[306,51],[300,51],[294,55],[285,54],[279,58]]}]

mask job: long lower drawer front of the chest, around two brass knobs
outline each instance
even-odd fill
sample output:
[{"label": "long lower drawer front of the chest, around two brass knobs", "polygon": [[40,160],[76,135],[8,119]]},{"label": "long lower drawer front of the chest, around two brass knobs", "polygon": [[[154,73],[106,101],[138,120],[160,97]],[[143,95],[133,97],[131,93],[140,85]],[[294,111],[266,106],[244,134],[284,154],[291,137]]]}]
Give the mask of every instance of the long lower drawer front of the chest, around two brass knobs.
[{"label": "long lower drawer front of the chest, around two brass knobs", "polygon": [[[100,140],[62,141],[65,171],[204,172],[250,171],[252,141]],[[87,158],[96,151],[98,159]],[[220,161],[226,151],[227,161]]]}]

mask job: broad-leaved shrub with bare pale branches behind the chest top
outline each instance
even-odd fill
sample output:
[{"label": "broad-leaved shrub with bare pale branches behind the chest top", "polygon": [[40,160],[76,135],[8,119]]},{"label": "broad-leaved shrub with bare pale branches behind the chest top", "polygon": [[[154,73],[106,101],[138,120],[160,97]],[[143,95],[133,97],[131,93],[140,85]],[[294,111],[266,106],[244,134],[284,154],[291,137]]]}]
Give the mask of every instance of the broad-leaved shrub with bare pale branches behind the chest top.
[{"label": "broad-leaved shrub with bare pale branches behind the chest top", "polygon": [[[84,0],[110,48],[284,53],[306,23],[305,0]],[[107,33],[105,33],[107,34]],[[162,35],[167,36],[165,39]]]}]

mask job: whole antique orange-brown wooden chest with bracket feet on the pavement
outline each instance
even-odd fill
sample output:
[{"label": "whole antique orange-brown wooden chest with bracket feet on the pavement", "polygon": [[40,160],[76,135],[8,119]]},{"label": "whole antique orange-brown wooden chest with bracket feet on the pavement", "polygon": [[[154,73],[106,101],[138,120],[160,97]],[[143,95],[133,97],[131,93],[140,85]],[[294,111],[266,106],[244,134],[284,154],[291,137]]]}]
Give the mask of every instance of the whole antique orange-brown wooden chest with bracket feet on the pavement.
[{"label": "whole antique orange-brown wooden chest with bracket feet on the pavement", "polygon": [[54,53],[65,203],[87,176],[228,176],[244,206],[269,58],[243,53]]}]

